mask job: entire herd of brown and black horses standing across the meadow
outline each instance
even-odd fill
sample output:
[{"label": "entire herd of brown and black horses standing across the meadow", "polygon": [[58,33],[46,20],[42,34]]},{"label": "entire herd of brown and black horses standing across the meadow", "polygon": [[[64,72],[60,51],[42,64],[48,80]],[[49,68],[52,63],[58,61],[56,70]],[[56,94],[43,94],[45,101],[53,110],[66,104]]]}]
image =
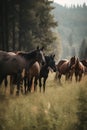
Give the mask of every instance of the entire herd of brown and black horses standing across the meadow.
[{"label": "entire herd of brown and black horses standing across the meadow", "polygon": [[37,84],[39,83],[40,92],[42,86],[43,92],[45,92],[49,71],[56,73],[59,82],[61,82],[62,75],[65,75],[66,80],[72,80],[72,76],[75,74],[77,82],[87,72],[87,60],[80,61],[73,56],[70,60],[64,59],[56,63],[55,55],[44,54],[44,47],[37,47],[30,52],[0,51],[0,84],[4,81],[5,87],[7,87],[7,76],[9,75],[11,94],[13,93],[13,84],[17,85],[17,95],[19,95],[23,85],[24,93],[31,92],[32,83],[34,83],[34,91],[37,90]]}]

